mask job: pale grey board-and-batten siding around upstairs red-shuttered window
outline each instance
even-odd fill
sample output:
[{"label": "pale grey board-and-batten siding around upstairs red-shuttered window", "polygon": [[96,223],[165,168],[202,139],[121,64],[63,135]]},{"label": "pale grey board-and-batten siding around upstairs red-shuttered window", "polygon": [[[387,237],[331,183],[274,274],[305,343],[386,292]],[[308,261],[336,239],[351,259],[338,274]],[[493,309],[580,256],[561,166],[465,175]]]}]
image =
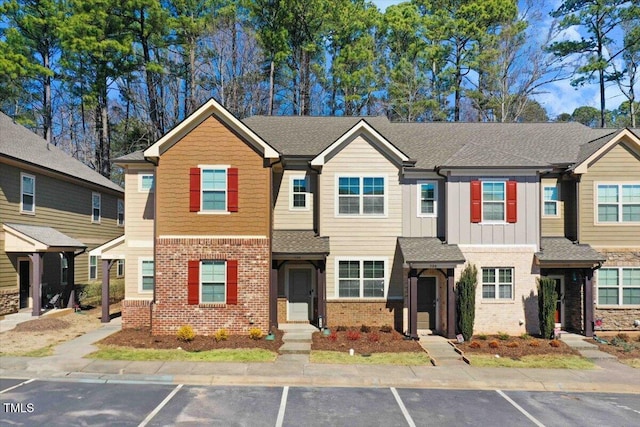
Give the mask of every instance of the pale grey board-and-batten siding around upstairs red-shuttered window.
[{"label": "pale grey board-and-batten siding around upstairs red-shuttered window", "polygon": [[[447,241],[466,245],[539,245],[540,184],[537,176],[488,175],[516,181],[517,222],[472,223],[470,182],[480,177],[451,176],[447,182]],[[489,178],[487,178],[489,179]]]}]

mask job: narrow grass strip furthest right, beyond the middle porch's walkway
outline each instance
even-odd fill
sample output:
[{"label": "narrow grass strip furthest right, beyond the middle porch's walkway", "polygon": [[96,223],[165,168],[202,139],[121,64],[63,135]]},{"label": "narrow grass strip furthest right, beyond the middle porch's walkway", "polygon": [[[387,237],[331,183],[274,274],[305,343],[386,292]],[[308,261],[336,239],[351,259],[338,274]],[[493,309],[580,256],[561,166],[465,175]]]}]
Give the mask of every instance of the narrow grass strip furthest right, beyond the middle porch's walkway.
[{"label": "narrow grass strip furthest right, beyond the middle porch's walkway", "polygon": [[548,369],[594,369],[595,365],[580,356],[529,355],[519,359],[495,357],[487,354],[467,355],[471,366],[483,368],[548,368]]}]

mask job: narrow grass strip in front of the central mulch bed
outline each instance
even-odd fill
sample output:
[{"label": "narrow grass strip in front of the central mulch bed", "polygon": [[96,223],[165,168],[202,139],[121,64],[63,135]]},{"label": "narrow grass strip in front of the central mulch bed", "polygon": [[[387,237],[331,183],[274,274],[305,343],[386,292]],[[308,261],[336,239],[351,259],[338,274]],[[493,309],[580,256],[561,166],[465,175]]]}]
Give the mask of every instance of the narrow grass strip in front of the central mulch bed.
[{"label": "narrow grass strip in front of the central mulch bed", "polygon": [[431,359],[426,353],[373,353],[368,357],[348,352],[314,350],[310,356],[311,363],[337,363],[344,365],[428,365]]}]

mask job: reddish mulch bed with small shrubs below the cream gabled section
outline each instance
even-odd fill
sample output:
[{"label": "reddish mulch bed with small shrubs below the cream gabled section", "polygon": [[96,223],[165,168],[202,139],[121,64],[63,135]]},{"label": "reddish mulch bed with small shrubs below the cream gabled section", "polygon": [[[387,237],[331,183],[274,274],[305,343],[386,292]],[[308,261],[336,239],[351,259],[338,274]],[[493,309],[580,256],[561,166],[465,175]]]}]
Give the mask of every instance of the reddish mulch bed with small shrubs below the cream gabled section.
[{"label": "reddish mulch bed with small shrubs below the cream gabled section", "polygon": [[404,336],[397,331],[372,330],[367,333],[360,332],[360,328],[332,331],[328,336],[321,332],[314,332],[311,349],[326,351],[353,349],[357,354],[424,352],[420,344],[413,340],[405,340]]}]

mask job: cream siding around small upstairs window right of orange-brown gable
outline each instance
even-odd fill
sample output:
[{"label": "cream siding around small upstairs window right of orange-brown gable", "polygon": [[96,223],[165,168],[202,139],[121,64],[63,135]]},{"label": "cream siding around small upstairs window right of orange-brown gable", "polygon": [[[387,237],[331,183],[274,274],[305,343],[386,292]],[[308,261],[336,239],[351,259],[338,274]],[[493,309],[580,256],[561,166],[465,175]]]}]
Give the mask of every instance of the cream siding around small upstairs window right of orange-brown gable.
[{"label": "cream siding around small upstairs window right of orange-brown gable", "polygon": [[[273,210],[273,228],[275,230],[312,230],[314,189],[316,188],[316,174],[304,170],[284,170],[275,174],[274,189],[275,207]],[[291,179],[293,177],[307,179],[307,207],[306,209],[291,208]]]}]

